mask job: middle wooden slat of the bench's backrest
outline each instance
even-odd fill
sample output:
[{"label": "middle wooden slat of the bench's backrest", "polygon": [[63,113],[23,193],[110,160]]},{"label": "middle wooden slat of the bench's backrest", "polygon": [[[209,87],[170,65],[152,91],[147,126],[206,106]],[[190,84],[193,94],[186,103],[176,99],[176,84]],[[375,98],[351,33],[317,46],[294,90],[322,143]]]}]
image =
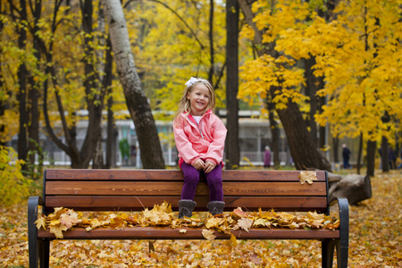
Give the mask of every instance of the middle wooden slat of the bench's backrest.
[{"label": "middle wooden slat of the bench's backrest", "polygon": [[[47,181],[46,195],[71,196],[178,196],[183,182],[175,181]],[[196,195],[209,196],[206,183],[199,183]],[[223,182],[224,196],[325,196],[326,185],[300,182]]]}]

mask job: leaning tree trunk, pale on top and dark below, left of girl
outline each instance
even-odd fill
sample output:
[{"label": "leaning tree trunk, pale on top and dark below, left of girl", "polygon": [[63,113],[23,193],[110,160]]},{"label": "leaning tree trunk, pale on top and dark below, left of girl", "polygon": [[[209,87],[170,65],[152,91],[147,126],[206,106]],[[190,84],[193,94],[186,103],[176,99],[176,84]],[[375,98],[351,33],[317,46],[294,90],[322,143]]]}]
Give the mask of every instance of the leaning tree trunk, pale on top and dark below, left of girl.
[{"label": "leaning tree trunk, pale on top and dark below, left of girl", "polygon": [[158,132],[147,96],[141,88],[121,2],[119,0],[103,0],[102,3],[105,6],[105,14],[109,22],[113,55],[121,86],[138,134],[141,161],[146,169],[164,169]]}]

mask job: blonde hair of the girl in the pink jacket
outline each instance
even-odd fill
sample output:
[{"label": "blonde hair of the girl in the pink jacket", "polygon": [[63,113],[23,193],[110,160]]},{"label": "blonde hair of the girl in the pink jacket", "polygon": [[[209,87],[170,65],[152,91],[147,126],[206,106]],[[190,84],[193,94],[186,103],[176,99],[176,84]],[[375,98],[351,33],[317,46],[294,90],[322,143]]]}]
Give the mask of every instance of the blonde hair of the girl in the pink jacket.
[{"label": "blonde hair of the girl in the pink jacket", "polygon": [[174,116],[173,121],[176,121],[177,117],[181,114],[181,113],[186,113],[186,115],[188,115],[189,113],[191,113],[191,105],[190,105],[190,101],[187,98],[188,96],[188,92],[191,92],[191,90],[196,87],[199,84],[203,84],[205,85],[206,88],[208,88],[209,91],[209,95],[210,95],[210,100],[208,105],[205,108],[205,111],[203,111],[204,113],[208,110],[212,110],[215,107],[215,92],[214,92],[214,88],[212,87],[211,83],[208,80],[203,80],[203,79],[197,79],[197,81],[195,81],[194,83],[192,83],[190,86],[186,87],[184,89],[184,93],[183,96],[181,96],[180,102],[179,102],[179,109],[177,110],[176,115]]}]

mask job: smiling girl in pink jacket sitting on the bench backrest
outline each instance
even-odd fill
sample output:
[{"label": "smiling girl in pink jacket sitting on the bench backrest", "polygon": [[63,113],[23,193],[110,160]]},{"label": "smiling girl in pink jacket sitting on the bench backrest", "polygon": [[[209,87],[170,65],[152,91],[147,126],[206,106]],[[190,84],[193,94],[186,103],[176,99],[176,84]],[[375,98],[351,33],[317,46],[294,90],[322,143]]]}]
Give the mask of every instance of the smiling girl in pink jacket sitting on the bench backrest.
[{"label": "smiling girl in pink jacket sitting on the bench backrest", "polygon": [[173,120],[174,139],[179,152],[179,166],[184,174],[179,218],[191,217],[196,188],[201,173],[210,191],[206,207],[211,214],[222,214],[222,156],[226,138],[223,122],[212,112],[214,88],[207,80],[191,78],[186,82],[179,110]]}]

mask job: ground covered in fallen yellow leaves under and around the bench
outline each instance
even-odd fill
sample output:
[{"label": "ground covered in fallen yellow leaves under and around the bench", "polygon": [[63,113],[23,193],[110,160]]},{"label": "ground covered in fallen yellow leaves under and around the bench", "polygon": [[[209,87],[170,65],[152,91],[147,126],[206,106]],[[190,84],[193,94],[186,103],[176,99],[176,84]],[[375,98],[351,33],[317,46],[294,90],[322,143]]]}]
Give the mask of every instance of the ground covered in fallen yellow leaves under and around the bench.
[{"label": "ground covered in fallen yellow leaves under and around the bench", "polygon": [[[349,267],[402,267],[402,174],[371,178],[373,197],[350,207]],[[56,240],[51,267],[321,267],[310,240]],[[154,251],[150,251],[150,245]],[[0,206],[0,267],[29,267],[27,204]]]}]

